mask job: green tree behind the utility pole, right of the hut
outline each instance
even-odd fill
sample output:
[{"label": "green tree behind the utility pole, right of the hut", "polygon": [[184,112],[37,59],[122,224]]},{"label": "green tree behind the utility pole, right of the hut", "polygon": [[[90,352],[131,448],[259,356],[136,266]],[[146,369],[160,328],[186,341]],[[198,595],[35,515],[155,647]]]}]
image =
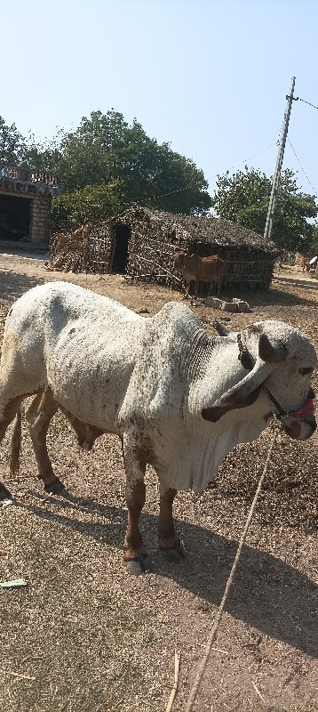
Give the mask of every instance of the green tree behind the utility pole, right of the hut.
[{"label": "green tree behind the utility pole, right of the hut", "polygon": [[[272,179],[264,173],[248,169],[218,176],[217,190],[212,200],[219,217],[233,220],[262,235],[265,229]],[[282,172],[276,198],[272,239],[279,247],[306,251],[314,236],[318,206],[315,196],[300,192],[295,174]]]}]

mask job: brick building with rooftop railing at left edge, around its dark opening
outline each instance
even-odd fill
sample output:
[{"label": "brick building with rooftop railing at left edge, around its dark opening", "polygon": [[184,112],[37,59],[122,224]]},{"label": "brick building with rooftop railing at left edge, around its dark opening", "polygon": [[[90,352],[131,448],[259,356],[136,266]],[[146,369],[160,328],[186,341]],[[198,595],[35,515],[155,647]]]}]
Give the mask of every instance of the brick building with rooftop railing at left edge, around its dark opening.
[{"label": "brick building with rooftop railing at left edge, around its dark opening", "polygon": [[0,163],[0,246],[4,241],[48,244],[52,196],[59,193],[58,176]]}]

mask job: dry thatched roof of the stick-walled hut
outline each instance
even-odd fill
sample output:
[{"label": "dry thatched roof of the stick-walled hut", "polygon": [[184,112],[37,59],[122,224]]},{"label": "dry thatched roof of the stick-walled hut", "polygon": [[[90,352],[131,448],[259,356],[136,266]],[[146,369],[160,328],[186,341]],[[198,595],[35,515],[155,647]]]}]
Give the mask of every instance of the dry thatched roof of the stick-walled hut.
[{"label": "dry thatched roof of the stick-walled hut", "polygon": [[251,247],[269,253],[278,253],[279,247],[271,240],[264,239],[256,232],[230,220],[216,217],[165,213],[147,207],[133,206],[111,219],[111,223],[133,223],[135,220],[152,223],[157,231],[172,234],[178,231],[178,237],[195,242],[213,243],[219,247]]}]

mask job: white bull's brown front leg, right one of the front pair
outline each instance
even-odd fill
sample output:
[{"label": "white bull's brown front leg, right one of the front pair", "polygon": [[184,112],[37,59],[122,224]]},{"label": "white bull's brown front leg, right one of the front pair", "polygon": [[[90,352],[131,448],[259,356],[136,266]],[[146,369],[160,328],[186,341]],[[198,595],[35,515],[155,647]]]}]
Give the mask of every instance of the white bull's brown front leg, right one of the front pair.
[{"label": "white bull's brown front leg, right one of the front pair", "polygon": [[169,562],[181,562],[185,550],[176,535],[172,517],[173,500],[177,490],[160,488],[160,513],[158,522],[159,547]]}]

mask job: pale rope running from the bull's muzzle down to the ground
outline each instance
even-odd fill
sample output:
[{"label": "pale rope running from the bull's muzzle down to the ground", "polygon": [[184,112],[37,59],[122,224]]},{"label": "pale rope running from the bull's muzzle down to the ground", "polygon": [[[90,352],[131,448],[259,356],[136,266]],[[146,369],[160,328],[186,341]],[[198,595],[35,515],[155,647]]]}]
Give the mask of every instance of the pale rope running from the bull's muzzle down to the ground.
[{"label": "pale rope running from the bull's muzzle down to the ground", "polygon": [[240,544],[239,544],[239,546],[238,546],[238,549],[237,549],[237,552],[236,552],[236,555],[235,555],[235,560],[234,560],[234,562],[233,562],[233,566],[232,566],[232,569],[231,569],[231,571],[230,571],[230,575],[229,575],[229,577],[227,578],[227,586],[226,586],[226,589],[225,589],[225,592],[224,592],[222,601],[221,601],[221,603],[219,604],[219,611],[217,612],[217,615],[216,615],[216,618],[215,618],[215,621],[214,621],[214,625],[213,625],[213,627],[212,627],[212,629],[211,629],[211,634],[209,635],[209,639],[208,639],[208,643],[207,643],[206,648],[205,648],[205,653],[204,653],[203,659],[201,660],[201,662],[199,663],[199,666],[198,666],[198,668],[197,668],[196,677],[195,677],[195,683],[193,684],[192,689],[191,689],[191,691],[190,691],[189,699],[188,699],[188,701],[187,701],[187,708],[186,708],[185,712],[191,712],[191,710],[192,710],[193,707],[194,707],[195,699],[196,699],[196,696],[197,696],[197,692],[198,692],[198,690],[199,690],[199,686],[200,686],[200,683],[201,683],[202,678],[203,678],[204,670],[205,670],[205,667],[206,667],[206,665],[207,665],[207,662],[208,662],[208,659],[209,659],[209,656],[210,656],[210,653],[211,653],[211,648],[212,648],[212,645],[213,645],[213,643],[214,643],[214,641],[215,641],[215,639],[216,639],[216,637],[217,637],[217,635],[218,635],[218,629],[219,629],[219,624],[220,624],[220,621],[221,621],[221,618],[222,618],[222,613],[223,613],[224,608],[225,608],[225,605],[226,605],[226,603],[227,603],[227,597],[228,597],[228,594],[229,594],[230,587],[232,586],[233,579],[235,578],[235,571],[236,571],[236,569],[237,569],[237,565],[238,565],[238,562],[239,562],[239,559],[240,559],[240,555],[241,555],[241,552],[242,552],[242,547],[243,547],[244,544],[245,544],[245,539],[246,539],[247,532],[248,532],[249,527],[250,527],[251,518],[252,518],[252,516],[253,516],[253,514],[254,514],[254,509],[255,509],[255,506],[256,506],[257,501],[258,501],[258,495],[259,495],[259,492],[260,492],[260,488],[261,488],[261,486],[262,486],[262,482],[263,482],[264,477],[265,477],[265,475],[266,475],[268,463],[269,463],[269,460],[270,460],[270,457],[271,457],[271,454],[272,454],[272,450],[273,450],[273,448],[274,448],[274,442],[276,441],[276,438],[277,438],[277,431],[274,432],[274,437],[273,437],[273,440],[272,440],[270,449],[269,449],[269,451],[268,451],[268,455],[267,455],[267,457],[266,457],[266,463],[265,463],[265,466],[264,466],[264,470],[263,470],[263,472],[262,472],[262,474],[261,474],[261,476],[260,476],[260,478],[259,478],[259,481],[258,481],[258,489],[257,489],[256,492],[255,492],[254,499],[253,499],[253,501],[252,501],[252,503],[251,503],[251,506],[250,506],[250,512],[249,512],[249,515],[248,515],[248,517],[247,517],[244,530],[243,530],[243,532],[242,532],[242,537],[241,537],[241,539],[240,539]]}]

